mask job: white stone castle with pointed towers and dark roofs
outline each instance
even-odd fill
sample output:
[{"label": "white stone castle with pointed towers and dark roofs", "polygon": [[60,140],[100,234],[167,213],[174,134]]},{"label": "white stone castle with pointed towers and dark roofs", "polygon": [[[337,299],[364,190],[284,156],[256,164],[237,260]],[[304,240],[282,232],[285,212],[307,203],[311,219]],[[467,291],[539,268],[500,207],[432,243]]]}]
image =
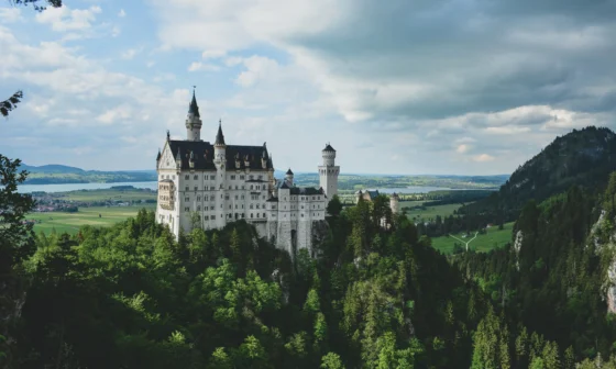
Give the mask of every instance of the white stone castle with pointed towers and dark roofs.
[{"label": "white stone castle with pointed towers and dark roofs", "polygon": [[186,139],[167,131],[156,157],[158,200],[156,222],[178,237],[180,230],[222,228],[245,220],[258,235],[292,253],[312,247],[315,225],[324,221],[328,201],[338,193],[336,150],[322,149],[320,188],[298,188],[289,170],[274,178],[272,154],[262,146],[227,145],[219,122],[212,144],[201,139],[202,122],[195,91],[186,118]]}]

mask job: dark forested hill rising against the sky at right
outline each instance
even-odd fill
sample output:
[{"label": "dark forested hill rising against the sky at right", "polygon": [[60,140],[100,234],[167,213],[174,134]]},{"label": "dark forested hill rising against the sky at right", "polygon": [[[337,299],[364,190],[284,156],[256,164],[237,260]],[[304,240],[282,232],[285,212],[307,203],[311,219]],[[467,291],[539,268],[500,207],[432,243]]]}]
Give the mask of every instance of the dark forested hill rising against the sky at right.
[{"label": "dark forested hill rising against the sky at right", "polygon": [[521,165],[498,193],[466,206],[463,212],[505,212],[515,219],[528,200],[542,200],[576,185],[601,191],[616,170],[616,134],[588,126],[557,137]]}]

